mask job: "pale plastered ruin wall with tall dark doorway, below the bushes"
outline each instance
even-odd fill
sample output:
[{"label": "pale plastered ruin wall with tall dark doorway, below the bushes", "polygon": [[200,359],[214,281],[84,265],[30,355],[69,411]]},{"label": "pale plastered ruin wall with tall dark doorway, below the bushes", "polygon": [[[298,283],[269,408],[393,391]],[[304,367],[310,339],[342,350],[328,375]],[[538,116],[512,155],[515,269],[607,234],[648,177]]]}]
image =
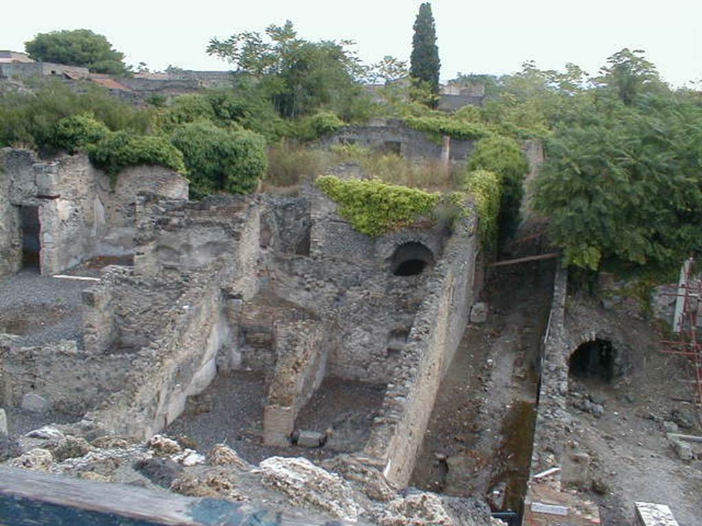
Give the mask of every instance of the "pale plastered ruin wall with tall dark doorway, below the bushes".
[{"label": "pale plastered ruin wall with tall dark doorway, below the bushes", "polygon": [[40,266],[58,274],[98,255],[131,254],[138,191],[187,198],[185,178],[166,168],[139,166],[110,178],[85,154],[39,161],[34,152],[4,149],[0,175],[0,277],[21,267],[20,206],[36,206],[41,224]]}]

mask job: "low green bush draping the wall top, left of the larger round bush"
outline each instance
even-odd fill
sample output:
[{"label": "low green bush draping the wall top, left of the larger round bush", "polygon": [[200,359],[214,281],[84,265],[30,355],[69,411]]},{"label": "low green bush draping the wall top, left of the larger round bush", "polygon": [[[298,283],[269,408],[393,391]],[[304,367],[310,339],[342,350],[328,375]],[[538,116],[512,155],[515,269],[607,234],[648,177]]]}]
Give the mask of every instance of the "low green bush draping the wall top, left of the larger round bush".
[{"label": "low green bush draping the wall top, left of the larger round bush", "polygon": [[121,131],[110,133],[89,150],[93,166],[111,177],[127,166],[160,165],[185,173],[183,154],[161,135],[138,135]]}]

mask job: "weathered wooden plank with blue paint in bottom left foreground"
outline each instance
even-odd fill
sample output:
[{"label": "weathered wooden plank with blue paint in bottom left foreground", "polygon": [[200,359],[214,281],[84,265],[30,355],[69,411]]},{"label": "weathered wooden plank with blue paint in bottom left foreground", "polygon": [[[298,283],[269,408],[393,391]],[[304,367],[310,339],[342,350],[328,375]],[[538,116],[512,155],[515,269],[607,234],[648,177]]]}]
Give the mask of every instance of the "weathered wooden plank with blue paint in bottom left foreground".
[{"label": "weathered wooden plank with blue paint in bottom left foreground", "polygon": [[[343,526],[305,511],[194,499],[142,487],[93,482],[0,466],[0,525]],[[358,523],[357,523],[358,526]]]}]

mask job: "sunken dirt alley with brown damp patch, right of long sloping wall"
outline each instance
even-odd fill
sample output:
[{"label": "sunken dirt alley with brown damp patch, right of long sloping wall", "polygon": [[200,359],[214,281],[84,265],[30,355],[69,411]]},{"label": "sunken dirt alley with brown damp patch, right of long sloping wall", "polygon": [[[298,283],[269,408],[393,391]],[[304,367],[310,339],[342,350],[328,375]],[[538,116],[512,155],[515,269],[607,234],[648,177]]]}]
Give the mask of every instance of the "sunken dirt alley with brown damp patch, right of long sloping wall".
[{"label": "sunken dirt alley with brown damp patch, right of long sloping wall", "polygon": [[491,276],[484,292],[488,321],[469,325],[463,335],[439,389],[413,485],[484,498],[502,483],[505,502],[495,508],[522,506],[534,429],[534,363],[554,270],[552,261],[531,262],[499,267]]}]

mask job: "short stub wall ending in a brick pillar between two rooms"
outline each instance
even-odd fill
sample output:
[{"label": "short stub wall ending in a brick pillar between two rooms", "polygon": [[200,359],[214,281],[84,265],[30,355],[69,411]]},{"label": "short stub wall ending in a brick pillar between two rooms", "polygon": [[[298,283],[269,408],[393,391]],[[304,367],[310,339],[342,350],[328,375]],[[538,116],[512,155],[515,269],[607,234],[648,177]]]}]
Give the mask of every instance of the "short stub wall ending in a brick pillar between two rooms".
[{"label": "short stub wall ending in a brick pillar between two rooms", "polygon": [[289,445],[300,409],[322,384],[330,347],[324,325],[304,320],[274,328],[278,359],[263,416],[266,445]]}]

